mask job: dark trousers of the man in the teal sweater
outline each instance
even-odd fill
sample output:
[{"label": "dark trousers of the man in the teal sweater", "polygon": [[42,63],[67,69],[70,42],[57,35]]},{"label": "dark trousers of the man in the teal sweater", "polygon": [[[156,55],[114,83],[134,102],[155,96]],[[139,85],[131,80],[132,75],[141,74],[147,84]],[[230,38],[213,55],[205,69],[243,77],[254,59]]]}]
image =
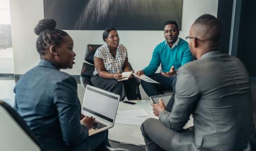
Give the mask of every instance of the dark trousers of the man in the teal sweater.
[{"label": "dark trousers of the man in the teal sweater", "polygon": [[160,83],[150,83],[141,80],[142,88],[149,97],[154,95],[160,95],[162,94],[162,91],[165,90],[173,90],[173,85],[175,85],[176,81],[176,77],[165,77],[161,73],[155,73],[148,77]]}]

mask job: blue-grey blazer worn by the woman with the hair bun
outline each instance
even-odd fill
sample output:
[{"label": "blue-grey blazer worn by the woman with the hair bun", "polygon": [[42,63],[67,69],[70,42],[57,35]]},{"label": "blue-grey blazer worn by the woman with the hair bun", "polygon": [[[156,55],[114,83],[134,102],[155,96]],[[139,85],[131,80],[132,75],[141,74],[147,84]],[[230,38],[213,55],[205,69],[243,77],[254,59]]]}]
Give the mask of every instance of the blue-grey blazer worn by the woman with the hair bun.
[{"label": "blue-grey blazer worn by the woman with the hair bun", "polygon": [[14,109],[45,150],[87,150],[88,128],[80,124],[76,80],[42,59],[14,88]]}]

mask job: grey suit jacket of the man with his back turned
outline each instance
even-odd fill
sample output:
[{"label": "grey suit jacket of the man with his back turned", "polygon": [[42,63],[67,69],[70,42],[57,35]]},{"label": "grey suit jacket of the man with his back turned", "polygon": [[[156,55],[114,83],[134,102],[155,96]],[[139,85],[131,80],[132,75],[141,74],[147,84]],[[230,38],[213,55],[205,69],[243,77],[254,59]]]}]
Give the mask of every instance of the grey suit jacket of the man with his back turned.
[{"label": "grey suit jacket of the man with his back turned", "polygon": [[159,119],[180,131],[193,114],[195,131],[177,133],[173,150],[253,150],[250,81],[238,58],[205,53],[179,69],[175,91],[172,112],[161,112]]}]

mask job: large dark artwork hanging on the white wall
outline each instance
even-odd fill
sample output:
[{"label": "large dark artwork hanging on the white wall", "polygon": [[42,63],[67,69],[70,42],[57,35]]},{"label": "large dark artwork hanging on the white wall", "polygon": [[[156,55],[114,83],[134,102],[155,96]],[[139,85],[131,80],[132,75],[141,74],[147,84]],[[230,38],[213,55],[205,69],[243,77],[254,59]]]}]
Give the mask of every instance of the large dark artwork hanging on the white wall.
[{"label": "large dark artwork hanging on the white wall", "polygon": [[167,20],[181,29],[182,0],[44,0],[45,18],[66,30],[163,30]]}]

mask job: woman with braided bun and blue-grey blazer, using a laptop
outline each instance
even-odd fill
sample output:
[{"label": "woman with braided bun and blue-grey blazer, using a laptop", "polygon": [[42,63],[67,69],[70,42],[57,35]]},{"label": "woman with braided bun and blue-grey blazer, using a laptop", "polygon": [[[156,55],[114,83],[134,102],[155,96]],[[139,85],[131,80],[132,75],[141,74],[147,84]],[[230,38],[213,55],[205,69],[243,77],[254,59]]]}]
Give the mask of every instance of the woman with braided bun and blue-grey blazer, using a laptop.
[{"label": "woman with braided bun and blue-grey blazer, using a laptop", "polygon": [[73,67],[73,40],[55,26],[55,20],[42,19],[34,29],[41,60],[17,82],[14,109],[44,150],[100,150],[108,144],[108,131],[88,136],[95,119],[80,116],[76,80],[59,71]]}]

